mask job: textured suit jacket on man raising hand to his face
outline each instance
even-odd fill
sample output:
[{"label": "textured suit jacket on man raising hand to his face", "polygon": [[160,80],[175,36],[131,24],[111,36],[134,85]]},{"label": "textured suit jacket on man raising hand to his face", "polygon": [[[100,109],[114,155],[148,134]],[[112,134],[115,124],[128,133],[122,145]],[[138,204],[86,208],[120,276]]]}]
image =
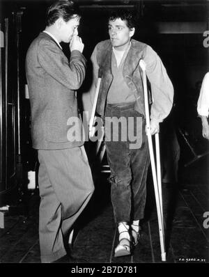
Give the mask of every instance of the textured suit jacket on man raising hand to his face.
[{"label": "textured suit jacket on man raising hand to his face", "polygon": [[33,148],[65,149],[84,144],[81,140],[69,141],[67,122],[78,118],[76,90],[85,72],[86,59],[81,52],[72,51],[68,61],[47,33],[33,40],[26,54]]}]

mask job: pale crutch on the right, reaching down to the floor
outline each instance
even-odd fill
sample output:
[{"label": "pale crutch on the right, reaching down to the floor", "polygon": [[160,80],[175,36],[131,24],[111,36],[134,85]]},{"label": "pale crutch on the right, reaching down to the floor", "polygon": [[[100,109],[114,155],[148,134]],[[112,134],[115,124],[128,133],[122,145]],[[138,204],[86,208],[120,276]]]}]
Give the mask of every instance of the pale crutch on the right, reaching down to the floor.
[{"label": "pale crutch on the right, reaching down to the floor", "polygon": [[153,141],[150,133],[150,116],[148,106],[148,89],[146,82],[146,63],[141,60],[139,62],[141,70],[143,72],[143,86],[144,86],[144,103],[145,103],[145,115],[146,115],[146,130],[148,136],[148,147],[150,152],[150,163],[153,173],[153,183],[155,189],[155,200],[157,206],[157,219],[160,233],[160,248],[162,261],[166,261],[165,243],[164,243],[164,223],[163,223],[163,210],[162,210],[162,184],[161,184],[161,173],[160,173],[160,143],[159,134],[155,134],[155,152],[157,161],[157,171],[155,166],[155,157],[153,152]]}]

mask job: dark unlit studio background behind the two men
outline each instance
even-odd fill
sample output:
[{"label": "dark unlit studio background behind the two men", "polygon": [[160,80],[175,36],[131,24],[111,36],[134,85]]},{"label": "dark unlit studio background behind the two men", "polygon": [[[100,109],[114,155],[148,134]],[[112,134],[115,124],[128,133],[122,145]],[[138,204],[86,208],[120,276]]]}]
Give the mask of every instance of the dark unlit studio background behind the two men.
[{"label": "dark unlit studio background behind the two men", "polygon": [[[52,1],[25,0],[10,1],[1,0],[1,30],[5,29],[5,18],[8,18],[8,100],[17,105],[17,89],[20,90],[20,151],[17,153],[17,119],[10,113],[12,105],[7,110],[8,120],[5,124],[6,114],[3,113],[2,122],[2,149],[1,149],[1,191],[6,191],[13,187],[13,182],[5,187],[6,179],[14,174],[16,163],[17,173],[20,169],[20,178],[26,171],[34,170],[36,152],[31,149],[30,129],[29,129],[29,100],[24,99],[24,84],[26,78],[24,73],[24,59],[26,50],[31,41],[45,29],[45,13],[47,6]],[[107,14],[114,8],[130,8],[137,15],[138,24],[134,38],[145,42],[160,55],[167,68],[167,72],[175,89],[175,107],[171,116],[172,124],[177,124],[187,132],[194,132],[192,118],[196,120],[197,129],[201,128],[200,119],[196,115],[196,104],[199,91],[196,90],[196,82],[202,81],[204,74],[208,70],[208,49],[203,47],[203,32],[208,30],[208,1],[77,1],[82,10],[82,21],[79,26],[79,34],[84,42],[84,55],[90,58],[91,52],[96,43],[108,38]],[[173,22],[175,22],[173,24]],[[18,34],[18,42],[17,42]],[[17,49],[18,43],[18,49]],[[63,49],[68,55],[68,45],[63,45]],[[5,53],[2,49],[2,65],[5,67]],[[19,72],[17,72],[17,56]],[[79,104],[82,107],[82,93],[88,90],[88,80],[91,80],[91,67],[87,70],[86,80],[79,92]],[[2,80],[5,72],[2,70]],[[2,89],[6,88],[5,81],[2,81]],[[4,101],[4,100],[3,100]],[[5,106],[2,104],[3,109]],[[17,107],[18,108],[18,107]],[[171,119],[170,119],[171,118]],[[166,120],[166,121],[167,121]],[[188,122],[188,123],[187,123]],[[190,122],[190,123],[189,123]],[[6,148],[6,138],[3,132],[13,127],[13,137],[8,132],[8,143]],[[15,130],[16,128],[16,130]],[[191,130],[192,129],[192,130]],[[198,130],[201,132],[201,129]],[[199,133],[199,136],[201,133]],[[14,139],[14,141],[13,141]],[[200,138],[198,138],[200,139]],[[195,142],[196,138],[193,138]],[[13,143],[11,143],[13,141]],[[201,140],[199,145],[205,145],[206,141]],[[16,147],[15,147],[16,145]],[[16,150],[15,150],[16,148]],[[16,152],[13,153],[13,152]],[[182,153],[182,159],[184,152]],[[7,156],[7,158],[5,157]],[[11,157],[12,155],[12,157]],[[16,155],[16,157],[15,157]],[[7,168],[6,164],[9,164]],[[19,169],[18,169],[19,168]],[[13,172],[14,171],[14,172]],[[18,175],[18,174],[17,174]],[[13,178],[12,178],[13,179]],[[2,199],[1,199],[2,201]],[[4,201],[3,201],[4,202]]]}]

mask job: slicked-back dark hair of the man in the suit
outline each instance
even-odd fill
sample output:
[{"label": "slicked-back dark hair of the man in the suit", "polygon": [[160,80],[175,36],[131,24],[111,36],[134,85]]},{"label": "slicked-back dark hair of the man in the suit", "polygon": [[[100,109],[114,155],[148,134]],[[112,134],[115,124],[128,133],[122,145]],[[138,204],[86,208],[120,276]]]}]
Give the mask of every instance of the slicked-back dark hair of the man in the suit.
[{"label": "slicked-back dark hair of the man in the suit", "polygon": [[75,17],[81,17],[78,6],[68,0],[59,0],[47,9],[46,25],[50,26],[56,19],[62,17],[65,22]]}]

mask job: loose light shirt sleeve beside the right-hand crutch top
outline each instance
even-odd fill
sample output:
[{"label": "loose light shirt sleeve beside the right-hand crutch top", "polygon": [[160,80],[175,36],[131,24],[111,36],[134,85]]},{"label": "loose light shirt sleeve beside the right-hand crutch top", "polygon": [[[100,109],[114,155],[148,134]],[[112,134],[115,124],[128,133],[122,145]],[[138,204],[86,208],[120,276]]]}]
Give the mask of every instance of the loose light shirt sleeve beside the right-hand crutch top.
[{"label": "loose light shirt sleeve beside the right-hand crutch top", "polygon": [[153,97],[150,118],[162,122],[173,106],[173,85],[160,57],[150,46],[147,46],[144,61]]}]

